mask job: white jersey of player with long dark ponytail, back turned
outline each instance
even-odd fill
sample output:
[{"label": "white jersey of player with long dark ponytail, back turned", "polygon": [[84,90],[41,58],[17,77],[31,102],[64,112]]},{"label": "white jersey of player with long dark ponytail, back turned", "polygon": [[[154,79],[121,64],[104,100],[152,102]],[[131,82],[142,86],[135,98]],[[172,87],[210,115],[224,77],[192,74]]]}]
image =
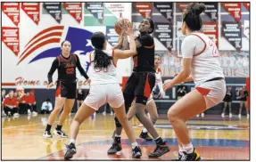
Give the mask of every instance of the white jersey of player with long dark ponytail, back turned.
[{"label": "white jersey of player with long dark ponytail, back turned", "polygon": [[[103,50],[104,53],[108,54],[109,56],[113,57],[114,51],[113,50]],[[95,69],[95,51],[90,53],[90,66],[88,69],[88,76],[90,77],[91,85],[103,85],[103,84],[118,84],[117,72],[116,72],[116,65],[114,65],[113,61],[111,61],[111,65],[106,69]]]}]

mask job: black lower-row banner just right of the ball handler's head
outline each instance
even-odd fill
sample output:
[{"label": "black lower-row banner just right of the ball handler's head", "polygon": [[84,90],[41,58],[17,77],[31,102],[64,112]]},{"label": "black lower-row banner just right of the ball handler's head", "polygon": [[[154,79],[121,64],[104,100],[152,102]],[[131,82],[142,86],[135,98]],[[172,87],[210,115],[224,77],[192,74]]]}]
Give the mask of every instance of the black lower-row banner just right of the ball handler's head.
[{"label": "black lower-row banner just right of the ball handler's head", "polygon": [[169,23],[155,22],[154,36],[166,48],[172,48],[172,28]]}]

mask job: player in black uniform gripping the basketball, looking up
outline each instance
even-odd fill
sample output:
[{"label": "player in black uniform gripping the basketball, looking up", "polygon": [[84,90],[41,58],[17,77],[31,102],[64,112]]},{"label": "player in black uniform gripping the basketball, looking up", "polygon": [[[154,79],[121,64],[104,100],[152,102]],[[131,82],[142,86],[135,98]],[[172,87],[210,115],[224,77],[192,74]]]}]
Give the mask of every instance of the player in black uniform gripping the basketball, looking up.
[{"label": "player in black uniform gripping the basketball, looking up", "polygon": [[[150,158],[158,158],[163,154],[169,152],[167,142],[163,142],[159,134],[157,134],[152,121],[145,115],[145,104],[147,99],[152,93],[155,84],[155,69],[154,69],[154,42],[153,33],[154,23],[153,20],[147,18],[142,20],[139,25],[140,35],[136,37],[136,52],[133,56],[134,69],[123,91],[125,99],[125,107],[128,110],[132,101],[136,98],[136,109],[130,117],[136,115],[137,119],[145,126],[148,132],[153,136],[156,142],[156,149],[149,154]],[[130,119],[130,118],[128,118]],[[114,142],[108,150],[108,154],[115,154],[121,150],[120,134],[122,126],[117,117],[115,117],[116,131],[114,134]]]}]

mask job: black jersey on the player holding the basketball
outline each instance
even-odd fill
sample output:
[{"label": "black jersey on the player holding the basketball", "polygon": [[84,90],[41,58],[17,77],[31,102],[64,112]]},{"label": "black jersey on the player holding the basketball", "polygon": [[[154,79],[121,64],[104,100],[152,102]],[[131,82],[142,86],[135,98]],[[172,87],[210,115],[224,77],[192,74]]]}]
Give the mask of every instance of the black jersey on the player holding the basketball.
[{"label": "black jersey on the player holding the basketball", "polygon": [[141,46],[136,48],[137,54],[133,56],[133,70],[136,72],[155,72],[153,36],[138,36],[136,40],[140,42]]}]

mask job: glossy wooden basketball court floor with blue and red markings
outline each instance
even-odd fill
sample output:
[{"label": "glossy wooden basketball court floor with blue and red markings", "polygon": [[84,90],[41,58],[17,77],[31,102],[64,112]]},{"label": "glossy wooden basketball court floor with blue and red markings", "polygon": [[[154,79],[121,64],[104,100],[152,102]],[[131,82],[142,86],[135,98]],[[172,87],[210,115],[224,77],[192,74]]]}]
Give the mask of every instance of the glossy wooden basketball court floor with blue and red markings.
[{"label": "glossy wooden basketball court floor with blue and red markings", "polygon": [[[63,126],[69,134],[72,114]],[[48,115],[29,117],[2,117],[2,160],[62,160],[65,143],[68,139],[43,139]],[[187,122],[192,143],[203,160],[249,160],[250,119],[237,116],[232,118],[219,116],[194,117]],[[55,123],[56,125],[56,123]],[[55,125],[53,127],[55,127]],[[154,142],[145,142],[138,135],[142,126],[134,117],[132,125],[137,142],[141,146],[141,160],[170,160],[178,154],[178,143],[166,115],[160,115],[156,128],[161,137],[169,144],[170,151],[161,158],[148,158],[147,154],[155,148]],[[111,135],[114,129],[113,116],[96,114],[80,126],[77,140],[77,154],[74,160],[135,160],[131,156],[128,137],[122,134],[122,153],[107,155],[111,147]],[[53,129],[52,129],[53,131]]]}]

